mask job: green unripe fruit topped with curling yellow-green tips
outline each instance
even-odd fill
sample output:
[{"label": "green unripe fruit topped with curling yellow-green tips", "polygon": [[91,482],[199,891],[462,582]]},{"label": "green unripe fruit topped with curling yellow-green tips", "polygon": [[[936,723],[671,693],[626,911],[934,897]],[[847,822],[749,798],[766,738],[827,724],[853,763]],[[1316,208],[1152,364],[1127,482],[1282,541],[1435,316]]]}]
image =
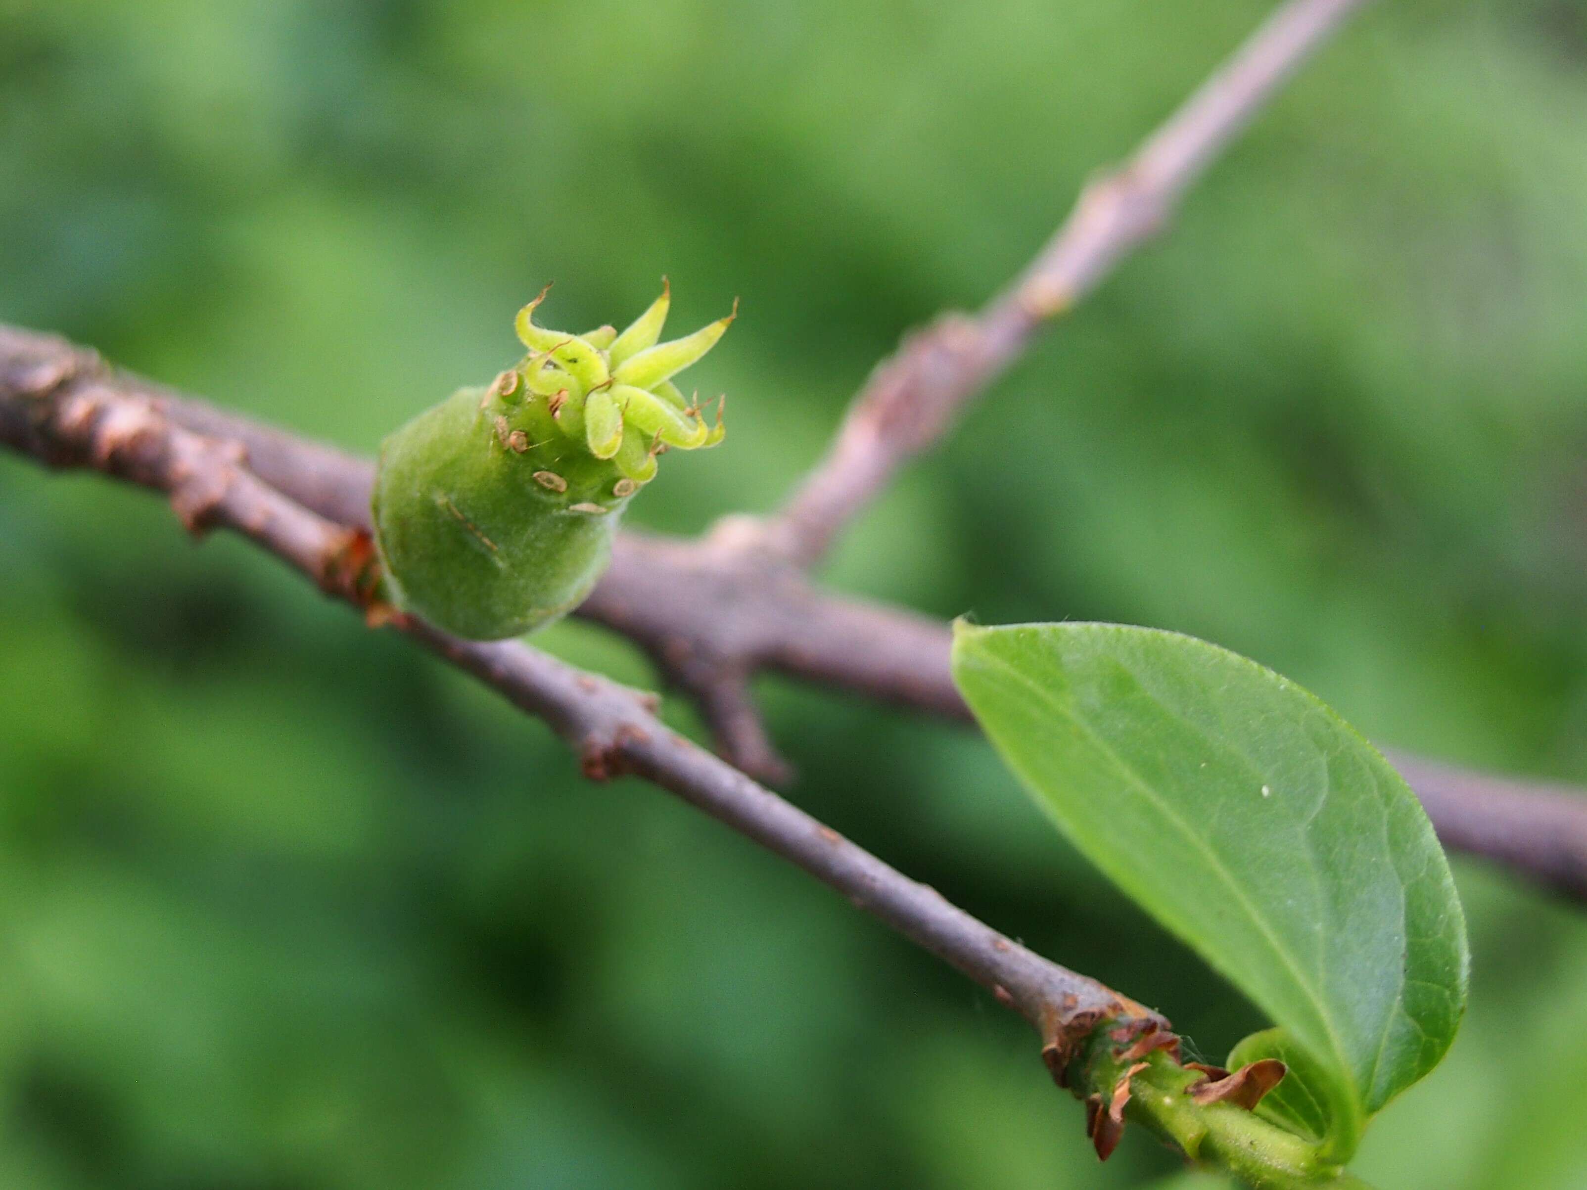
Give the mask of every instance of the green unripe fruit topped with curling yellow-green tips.
[{"label": "green unripe fruit topped with curling yellow-green tips", "polygon": [[[460,389],[381,444],[371,511],[386,597],[476,641],[533,631],[589,595],[622,511],[668,447],[722,441],[671,378],[733,314],[657,343],[670,292],[617,335],[517,316],[528,347],[487,389]],[[736,308],[735,308],[736,313]]]}]

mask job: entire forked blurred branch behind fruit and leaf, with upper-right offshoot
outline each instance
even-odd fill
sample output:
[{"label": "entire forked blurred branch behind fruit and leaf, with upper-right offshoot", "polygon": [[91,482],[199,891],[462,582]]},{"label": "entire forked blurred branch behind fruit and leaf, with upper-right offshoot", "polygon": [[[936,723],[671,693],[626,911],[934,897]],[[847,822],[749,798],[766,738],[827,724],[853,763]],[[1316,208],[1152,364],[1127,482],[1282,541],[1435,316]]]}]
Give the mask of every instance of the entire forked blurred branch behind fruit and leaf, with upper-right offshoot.
[{"label": "entire forked blurred branch behind fruit and leaf, with upper-right offshoot", "polygon": [[[1009,290],[1027,294],[1027,300],[1000,298],[979,324],[965,316],[949,319],[876,373],[855,398],[836,444],[782,517],[728,517],[700,541],[627,533],[579,614],[651,652],[663,674],[700,703],[724,754],[741,770],[771,779],[786,776],[787,766],[749,695],[751,678],[765,670],[968,717],[949,674],[946,625],[822,592],[803,573],[805,565],[905,460],[946,433],[952,414],[1006,367],[1043,317],[1065,305],[1055,295],[1065,292],[1070,301],[1081,297],[1162,222],[1216,152],[1360,2],[1292,0],[1281,8],[1128,167],[1087,190],[1068,224]],[[1141,211],[1155,214],[1144,219]],[[1032,294],[1047,297],[1035,301]],[[949,351],[970,340],[1001,344],[993,352],[1001,362],[987,368],[992,357],[984,347],[963,357]],[[68,368],[79,351],[48,336],[0,330],[0,367],[32,359],[35,367],[52,360],[48,367]],[[303,508],[340,525],[367,524],[368,462],[136,378],[117,374],[102,382],[157,401],[175,424],[235,443],[254,476]],[[906,401],[936,411],[935,420],[927,419],[928,433],[919,432],[919,420],[887,413]],[[817,511],[806,516],[801,508]],[[819,528],[808,533],[790,525]],[[1406,755],[1395,755],[1395,762],[1446,844],[1587,900],[1587,801],[1573,790]]]}]

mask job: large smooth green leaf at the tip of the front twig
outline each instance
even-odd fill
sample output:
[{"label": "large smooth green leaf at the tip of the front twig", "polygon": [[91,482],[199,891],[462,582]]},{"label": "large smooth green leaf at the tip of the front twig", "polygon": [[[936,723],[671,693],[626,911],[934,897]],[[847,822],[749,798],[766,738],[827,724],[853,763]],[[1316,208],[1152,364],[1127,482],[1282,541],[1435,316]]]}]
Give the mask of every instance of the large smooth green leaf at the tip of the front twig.
[{"label": "large smooth green leaf at the tip of the front twig", "polygon": [[1305,1050],[1344,1160],[1465,1011],[1465,917],[1404,781],[1306,690],[1190,636],[960,622],[954,678],[1063,833]]}]

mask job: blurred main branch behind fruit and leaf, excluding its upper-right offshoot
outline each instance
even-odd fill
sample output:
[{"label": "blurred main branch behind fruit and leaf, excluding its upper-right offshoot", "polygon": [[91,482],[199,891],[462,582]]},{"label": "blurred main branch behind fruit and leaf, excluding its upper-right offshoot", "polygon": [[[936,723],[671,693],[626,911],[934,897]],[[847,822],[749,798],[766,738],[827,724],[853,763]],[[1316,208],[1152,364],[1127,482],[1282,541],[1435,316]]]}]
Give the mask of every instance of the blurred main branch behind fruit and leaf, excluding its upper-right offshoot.
[{"label": "blurred main branch behind fruit and leaf, excluding its upper-right offshoot", "polygon": [[[0,397],[94,367],[94,354],[51,335],[0,325]],[[173,422],[240,446],[248,470],[343,527],[367,527],[373,468],[363,459],[290,435],[138,378],[100,374],[100,389],[141,398]],[[728,519],[701,541],[624,533],[613,565],[576,614],[622,633],[673,673],[733,674],[733,698],[774,671],[916,711],[968,720],[949,670],[941,620],[816,587],[784,559],[757,554],[755,532]],[[752,738],[716,724],[741,770],[778,779],[787,765],[749,716]],[[530,708],[533,709],[533,708]],[[719,712],[719,719],[725,716]],[[1587,901],[1587,795],[1574,787],[1495,777],[1395,752],[1446,846],[1501,863]]]}]

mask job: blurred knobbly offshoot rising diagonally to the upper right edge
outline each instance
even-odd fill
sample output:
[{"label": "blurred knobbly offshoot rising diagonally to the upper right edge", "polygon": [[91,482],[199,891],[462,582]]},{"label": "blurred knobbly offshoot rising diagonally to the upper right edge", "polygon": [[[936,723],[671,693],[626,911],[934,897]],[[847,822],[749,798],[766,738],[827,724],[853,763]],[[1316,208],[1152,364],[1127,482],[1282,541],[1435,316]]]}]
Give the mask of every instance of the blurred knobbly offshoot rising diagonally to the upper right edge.
[{"label": "blurred knobbly offshoot rising diagonally to the upper right edge", "polygon": [[979,314],[946,314],[884,360],[849,405],[825,459],[767,544],[809,566],[893,473],[936,443],[963,408],[1170,219],[1206,167],[1295,70],[1366,0],[1290,0],[1112,173],[1092,181],[1041,254]]}]

